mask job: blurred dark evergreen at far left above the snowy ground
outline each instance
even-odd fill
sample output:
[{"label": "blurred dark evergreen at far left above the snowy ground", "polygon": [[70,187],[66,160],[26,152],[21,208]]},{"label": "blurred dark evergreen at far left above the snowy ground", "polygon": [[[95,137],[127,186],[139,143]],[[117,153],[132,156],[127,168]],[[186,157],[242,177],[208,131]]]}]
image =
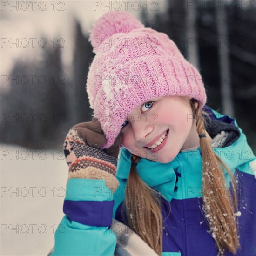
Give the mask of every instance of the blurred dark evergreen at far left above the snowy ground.
[{"label": "blurred dark evergreen at far left above the snowy ground", "polygon": [[[18,60],[9,75],[10,88],[2,97],[1,142],[28,148],[54,146],[65,121],[61,51],[43,48],[38,60]],[[4,133],[3,133],[4,132]]]}]

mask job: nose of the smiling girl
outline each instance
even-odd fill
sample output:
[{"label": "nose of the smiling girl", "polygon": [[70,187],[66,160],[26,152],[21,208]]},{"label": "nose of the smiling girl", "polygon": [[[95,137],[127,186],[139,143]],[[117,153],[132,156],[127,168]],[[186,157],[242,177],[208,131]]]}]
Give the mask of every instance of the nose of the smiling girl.
[{"label": "nose of the smiling girl", "polygon": [[148,135],[153,130],[152,123],[148,121],[138,121],[132,123],[135,141],[145,143],[148,140]]}]

